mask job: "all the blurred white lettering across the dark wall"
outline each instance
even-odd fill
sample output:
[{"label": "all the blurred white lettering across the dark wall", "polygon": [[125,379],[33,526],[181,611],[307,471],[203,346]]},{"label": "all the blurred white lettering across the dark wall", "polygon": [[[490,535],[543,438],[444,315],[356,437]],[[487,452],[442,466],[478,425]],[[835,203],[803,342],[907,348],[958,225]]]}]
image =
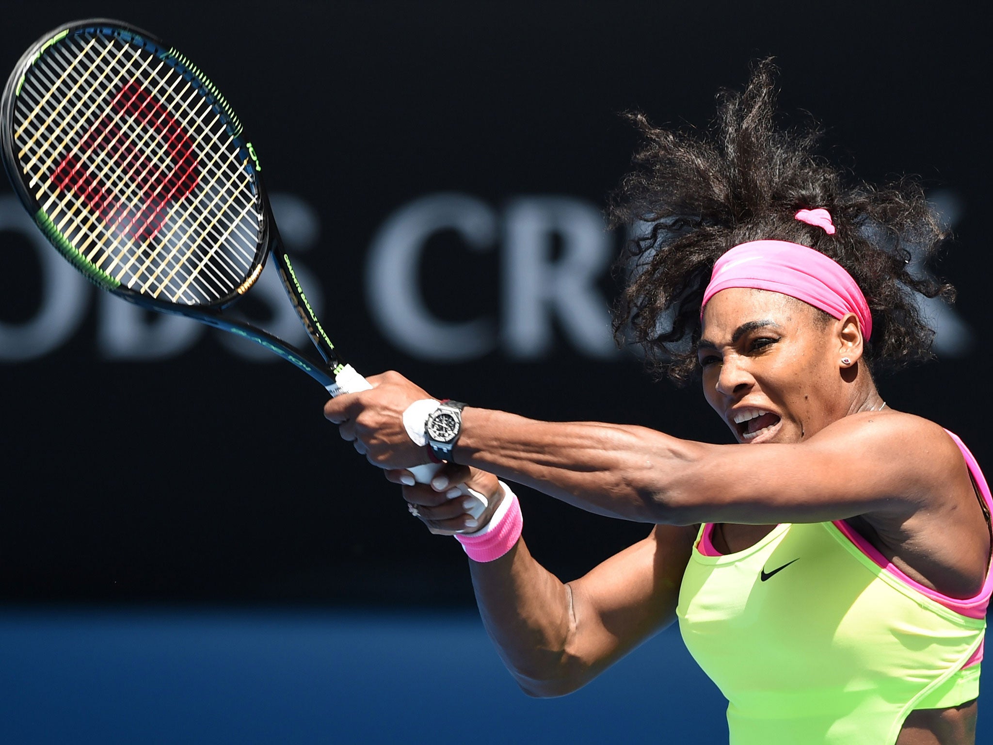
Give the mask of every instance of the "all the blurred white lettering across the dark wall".
[{"label": "all the blurred white lettering across the dark wall", "polygon": [[[317,245],[321,221],[313,207],[292,194],[273,194],[271,202],[283,237],[295,253]],[[951,228],[961,214],[957,197],[935,192],[931,203],[944,226]],[[498,258],[499,271],[481,279],[497,290],[492,307],[456,307],[455,317],[446,319],[432,313],[424,295],[434,288],[445,291],[445,267],[432,268],[432,289],[425,289],[424,253],[432,236],[444,231],[457,236],[458,250],[467,256]],[[3,232],[23,235],[37,253],[41,298],[30,318],[0,317],[0,362],[30,362],[64,345],[79,330],[93,297],[98,297],[96,346],[107,360],[169,359],[190,350],[208,333],[190,319],[152,313],[94,293],[49,245],[13,195],[0,195]],[[549,359],[555,354],[556,336],[583,356],[614,358],[618,353],[609,301],[601,284],[618,247],[600,211],[578,198],[521,196],[497,208],[472,195],[426,195],[397,208],[373,233],[364,257],[370,322],[401,352],[440,363],[478,360],[493,353],[517,361]],[[294,267],[320,315],[320,277],[300,260]],[[925,271],[917,262],[911,268]],[[267,330],[291,344],[309,344],[271,267],[262,273],[250,299],[256,311],[265,314]],[[939,300],[921,302],[937,332],[935,352],[948,358],[968,354],[973,334],[962,317]],[[217,338],[241,358],[276,360],[245,340],[226,334]]]}]

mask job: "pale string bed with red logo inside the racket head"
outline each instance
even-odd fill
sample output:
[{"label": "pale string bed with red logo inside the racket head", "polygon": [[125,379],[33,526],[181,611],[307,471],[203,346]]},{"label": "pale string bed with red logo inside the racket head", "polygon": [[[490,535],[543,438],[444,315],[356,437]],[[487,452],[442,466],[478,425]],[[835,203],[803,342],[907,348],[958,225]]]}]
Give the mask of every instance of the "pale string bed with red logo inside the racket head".
[{"label": "pale string bed with red logo inside the racket head", "polygon": [[[41,161],[42,165],[51,166],[59,153],[66,150],[65,145],[57,146],[56,138],[65,133],[67,125],[54,126],[53,122],[68,106],[75,119],[69,122],[73,125],[70,136],[75,140],[63,160],[67,167],[62,174],[62,198],[58,191],[51,194],[46,202],[47,210],[57,205],[57,213],[62,214],[54,222],[69,233],[67,238],[71,243],[78,247],[81,238],[86,255],[97,266],[102,266],[108,258],[110,263],[106,268],[116,270],[119,265],[118,279],[125,279],[125,284],[134,286],[141,279],[142,291],[148,291],[165,273],[165,279],[153,290],[156,297],[165,291],[173,301],[183,298],[185,302],[197,302],[203,297],[210,302],[229,294],[243,281],[255,260],[262,221],[250,173],[244,159],[238,159],[239,148],[231,146],[233,134],[219,113],[213,119],[210,117],[216,107],[199,90],[191,92],[190,81],[171,66],[159,61],[149,72],[151,61],[158,60],[153,55],[135,50],[127,59],[127,48],[121,43],[117,43],[121,49],[112,54],[112,42],[102,50],[94,42],[95,39],[88,40],[79,45],[81,49],[67,45],[66,53],[62,49],[53,50],[58,52],[53,59],[64,70],[50,71],[47,61],[39,61],[46,64],[35,66],[39,71],[38,85],[34,79],[25,81],[25,87],[37,102],[27,115],[19,117],[17,131],[23,134],[35,117],[46,117],[21,150],[23,156],[29,148],[37,148],[29,154],[28,164]],[[74,59],[68,59],[70,53],[74,53]],[[147,59],[141,61],[142,56]],[[105,69],[99,72],[97,80],[112,87],[130,74],[130,82],[137,86],[130,99],[117,106],[106,121],[103,119],[108,116],[107,111],[97,113],[101,102],[106,108],[106,96],[101,99],[90,94],[95,85],[84,84],[86,75],[92,74],[101,63]],[[139,78],[140,75],[143,76]],[[184,81],[186,85],[181,85]],[[45,83],[49,90],[40,89]],[[53,91],[60,85],[71,86],[71,97],[67,95],[65,102],[53,106]],[[139,97],[141,102],[136,103]],[[81,115],[80,110],[84,110]],[[48,139],[36,145],[45,130],[49,130]],[[89,134],[80,134],[80,130]],[[129,143],[123,148],[124,156],[111,152],[119,140]],[[98,147],[101,143],[106,146]],[[81,167],[67,160],[73,149],[84,151],[82,155],[92,161],[87,164],[91,177],[88,182],[75,176],[77,181],[71,183],[71,175],[78,174]],[[141,157],[136,153],[141,153]],[[173,169],[167,173],[170,165]],[[36,182],[46,176],[45,170],[36,172]],[[26,166],[26,174],[27,171]],[[57,168],[52,176],[58,173]],[[58,179],[47,181],[57,188],[60,186]],[[120,215],[125,208],[108,206],[105,200],[95,198],[94,184],[105,186],[113,197],[130,208],[130,220],[123,227],[120,224],[124,218]],[[81,194],[73,195],[73,191]],[[167,226],[169,230],[161,232]],[[150,243],[157,237],[162,238],[156,241],[161,246],[153,249]],[[92,250],[90,243],[95,244]],[[137,249],[135,243],[139,244]],[[137,270],[135,262],[140,262]],[[128,271],[131,271],[129,278]]]}]

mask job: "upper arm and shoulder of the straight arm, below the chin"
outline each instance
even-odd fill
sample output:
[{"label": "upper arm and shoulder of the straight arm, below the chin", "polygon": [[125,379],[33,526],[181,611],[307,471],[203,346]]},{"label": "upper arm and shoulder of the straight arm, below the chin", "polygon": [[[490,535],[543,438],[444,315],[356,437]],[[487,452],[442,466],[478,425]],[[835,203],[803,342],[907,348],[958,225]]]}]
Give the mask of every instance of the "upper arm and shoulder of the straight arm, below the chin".
[{"label": "upper arm and shoulder of the straight arm, below the chin", "polygon": [[968,482],[951,437],[900,411],[844,416],[797,443],[711,445],[700,453],[658,498],[659,522],[775,524],[871,514],[899,521],[933,506],[950,484]]}]

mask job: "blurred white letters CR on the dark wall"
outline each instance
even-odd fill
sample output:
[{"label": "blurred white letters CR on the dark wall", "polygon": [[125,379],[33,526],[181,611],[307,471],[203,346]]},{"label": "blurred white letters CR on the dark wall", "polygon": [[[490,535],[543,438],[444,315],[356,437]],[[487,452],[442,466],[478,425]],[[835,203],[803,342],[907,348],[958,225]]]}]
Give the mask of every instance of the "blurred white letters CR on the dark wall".
[{"label": "blurred white letters CR on the dark wall", "polygon": [[[502,252],[498,313],[467,308],[458,322],[431,314],[419,276],[427,241],[441,230],[457,232],[467,251]],[[617,351],[597,283],[615,250],[600,211],[582,200],[518,197],[497,211],[469,195],[433,194],[398,209],[372,238],[365,297],[382,334],[411,357],[461,362],[501,348],[513,360],[546,358],[557,320],[577,351],[608,358]],[[444,292],[444,267],[435,277]]]}]

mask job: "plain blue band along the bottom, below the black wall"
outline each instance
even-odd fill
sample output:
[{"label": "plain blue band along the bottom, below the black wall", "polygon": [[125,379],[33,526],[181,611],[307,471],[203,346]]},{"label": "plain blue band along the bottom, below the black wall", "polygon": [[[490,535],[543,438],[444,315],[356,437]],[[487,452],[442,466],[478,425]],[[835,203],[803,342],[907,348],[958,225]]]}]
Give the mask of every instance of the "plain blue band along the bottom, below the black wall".
[{"label": "plain blue band along the bottom, below the black wall", "polygon": [[470,612],[0,608],[0,742],[726,743],[672,627],[533,699]]}]

